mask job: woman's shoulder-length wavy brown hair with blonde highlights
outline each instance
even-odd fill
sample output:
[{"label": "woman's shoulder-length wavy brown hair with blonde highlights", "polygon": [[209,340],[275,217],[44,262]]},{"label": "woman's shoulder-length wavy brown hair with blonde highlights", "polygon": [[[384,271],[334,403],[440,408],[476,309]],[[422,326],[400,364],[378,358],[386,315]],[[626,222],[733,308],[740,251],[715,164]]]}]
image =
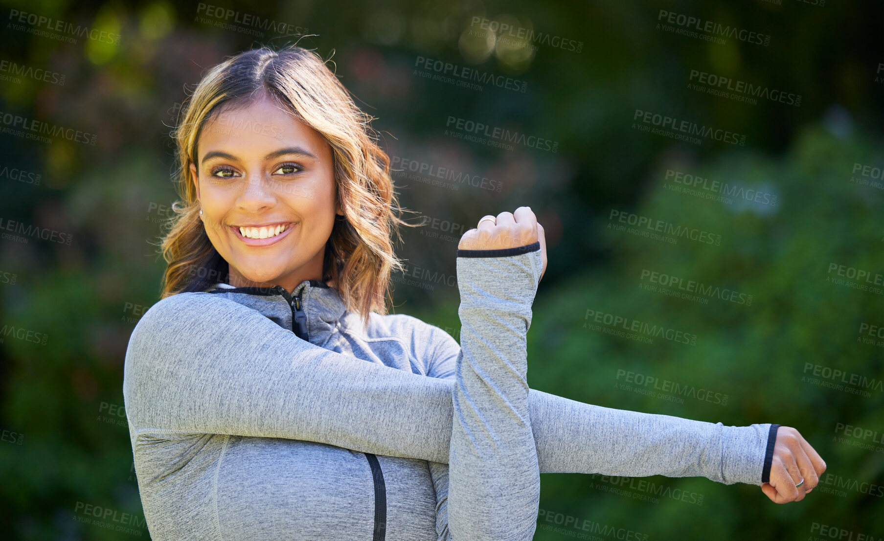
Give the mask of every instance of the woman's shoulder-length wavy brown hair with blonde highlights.
[{"label": "woman's shoulder-length wavy brown hair with blonde highlights", "polygon": [[325,243],[323,280],[333,280],[347,309],[368,325],[370,312],[386,313],[392,270],[403,270],[393,254],[392,232],[398,233],[397,225],[412,224],[396,214],[403,209],[393,189],[390,157],[377,145],[377,133],[370,127],[374,118],[356,106],[321,57],[295,45],[280,50],[260,47],[226,58],[182,103],[171,133],[181,201],[172,204],[174,216],[160,242],[167,263],[161,298],[205,291],[229,279],[227,262],[212,246],[199,217],[189,166],[196,163],[202,126],[222,104],[235,107],[259,92],[276,98],[331,145],[344,216],[335,220]]}]

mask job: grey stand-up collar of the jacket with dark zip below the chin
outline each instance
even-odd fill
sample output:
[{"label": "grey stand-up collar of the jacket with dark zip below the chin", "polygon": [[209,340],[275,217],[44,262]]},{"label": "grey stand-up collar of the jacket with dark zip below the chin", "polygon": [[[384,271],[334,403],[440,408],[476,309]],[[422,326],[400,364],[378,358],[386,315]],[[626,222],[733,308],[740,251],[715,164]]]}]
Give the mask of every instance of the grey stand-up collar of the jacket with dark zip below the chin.
[{"label": "grey stand-up collar of the jacket with dark zip below the chin", "polygon": [[[293,331],[301,339],[323,346],[338,328],[339,321],[347,311],[338,289],[320,280],[304,280],[292,293],[284,287],[234,287],[224,282],[209,286],[205,293],[222,295],[255,309],[283,329]],[[295,322],[298,301],[306,316],[307,336]]]}]

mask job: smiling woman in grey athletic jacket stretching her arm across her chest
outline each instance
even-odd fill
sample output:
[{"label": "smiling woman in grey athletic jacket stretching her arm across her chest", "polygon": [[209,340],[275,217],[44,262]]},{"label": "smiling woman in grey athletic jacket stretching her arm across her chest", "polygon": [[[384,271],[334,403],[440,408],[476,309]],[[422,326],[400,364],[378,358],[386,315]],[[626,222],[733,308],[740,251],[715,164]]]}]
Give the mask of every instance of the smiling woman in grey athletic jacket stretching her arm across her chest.
[{"label": "smiling woman in grey athletic jacket stretching her arm across her chest", "polygon": [[817,484],[825,464],[788,427],[531,390],[529,207],[461,238],[460,345],[386,314],[390,160],[313,53],[231,57],[182,114],[163,299],[123,381],[153,539],[528,540],[541,472],[769,480],[782,501]]}]

